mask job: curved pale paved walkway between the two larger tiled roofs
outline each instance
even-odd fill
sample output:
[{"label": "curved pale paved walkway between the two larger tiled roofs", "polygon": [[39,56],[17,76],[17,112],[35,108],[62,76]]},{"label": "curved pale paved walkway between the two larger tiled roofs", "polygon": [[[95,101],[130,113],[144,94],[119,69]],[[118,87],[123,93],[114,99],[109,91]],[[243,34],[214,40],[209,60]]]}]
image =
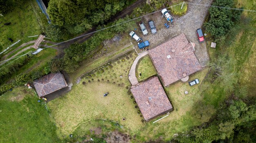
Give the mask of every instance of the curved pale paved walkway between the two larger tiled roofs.
[{"label": "curved pale paved walkway between the two larger tiled roofs", "polygon": [[138,55],[138,57],[136,57],[136,59],[132,63],[132,66],[131,66],[130,71],[129,71],[129,81],[132,84],[132,86],[135,86],[136,84],[139,84],[139,81],[136,77],[136,66],[139,62],[139,59],[141,59],[141,57],[144,57],[145,55],[148,55],[148,51],[140,53]]}]

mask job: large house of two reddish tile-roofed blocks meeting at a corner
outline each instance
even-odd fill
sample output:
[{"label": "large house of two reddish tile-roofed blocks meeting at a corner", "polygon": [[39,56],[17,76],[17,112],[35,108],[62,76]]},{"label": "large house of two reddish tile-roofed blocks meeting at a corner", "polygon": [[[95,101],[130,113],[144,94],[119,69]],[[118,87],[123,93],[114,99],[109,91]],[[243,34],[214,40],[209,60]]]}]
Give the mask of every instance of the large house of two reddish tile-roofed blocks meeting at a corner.
[{"label": "large house of two reddish tile-roofed blocks meeting at a corner", "polygon": [[[165,87],[178,80],[187,81],[189,75],[202,69],[194,51],[195,44],[189,42],[184,34],[177,35],[148,51]],[[151,77],[131,88],[146,121],[173,110],[162,84],[158,77]]]}]

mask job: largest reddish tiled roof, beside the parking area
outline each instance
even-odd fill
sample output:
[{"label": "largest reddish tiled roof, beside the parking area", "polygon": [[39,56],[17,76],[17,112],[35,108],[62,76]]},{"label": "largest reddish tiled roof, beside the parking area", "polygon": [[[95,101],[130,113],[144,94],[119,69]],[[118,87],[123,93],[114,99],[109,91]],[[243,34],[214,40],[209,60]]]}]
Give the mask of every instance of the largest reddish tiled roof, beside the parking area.
[{"label": "largest reddish tiled roof, beside the parking area", "polygon": [[194,46],[180,34],[148,51],[165,87],[202,69]]}]

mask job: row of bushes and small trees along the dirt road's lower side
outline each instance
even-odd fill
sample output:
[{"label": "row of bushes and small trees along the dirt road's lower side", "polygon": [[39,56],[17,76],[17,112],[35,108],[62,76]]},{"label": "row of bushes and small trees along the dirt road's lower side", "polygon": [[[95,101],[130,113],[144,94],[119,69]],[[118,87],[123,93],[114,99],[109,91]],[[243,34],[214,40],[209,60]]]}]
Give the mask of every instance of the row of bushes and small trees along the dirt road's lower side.
[{"label": "row of bushes and small trees along the dirt road's lower side", "polygon": [[[110,25],[115,25],[129,20],[128,17],[119,19]],[[83,44],[72,44],[65,49],[63,58],[53,59],[51,62],[52,72],[56,70],[65,70],[67,73],[73,73],[80,66],[79,63],[88,59],[92,55],[92,51],[101,46],[104,40],[113,38],[117,33],[124,33],[130,31],[135,22],[126,22],[110,29],[99,31],[95,33],[89,40]],[[106,26],[105,26],[106,27]],[[101,27],[104,28],[104,27]]]}]

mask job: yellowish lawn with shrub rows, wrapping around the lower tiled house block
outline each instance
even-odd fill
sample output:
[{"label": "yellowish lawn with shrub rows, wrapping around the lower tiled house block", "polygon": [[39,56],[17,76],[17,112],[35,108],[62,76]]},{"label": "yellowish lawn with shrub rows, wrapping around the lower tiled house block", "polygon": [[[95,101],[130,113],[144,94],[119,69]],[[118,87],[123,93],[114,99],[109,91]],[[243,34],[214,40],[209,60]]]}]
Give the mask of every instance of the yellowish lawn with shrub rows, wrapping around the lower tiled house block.
[{"label": "yellowish lawn with shrub rows, wrapping around the lower tiled house block", "polygon": [[[86,75],[80,84],[74,85],[64,97],[49,103],[59,129],[59,137],[65,138],[71,133],[82,136],[88,134],[91,128],[101,126],[106,132],[111,129],[119,129],[132,135],[136,134],[139,141],[157,139],[161,135],[170,139],[174,133],[187,130],[200,123],[187,115],[193,103],[200,98],[200,85],[190,87],[181,81],[166,88],[170,101],[177,109],[158,123],[141,122],[143,117],[137,114],[137,110],[139,110],[135,108],[137,104],[133,103],[134,99],[130,98],[129,89],[126,89],[126,86],[130,88],[128,72],[135,57],[135,54],[128,55],[124,60],[120,59],[95,70],[94,73]],[[207,71],[208,69],[205,68],[192,75],[191,79],[199,78],[202,81]],[[185,90],[188,90],[190,94],[184,95]],[[110,94],[103,97],[105,92]],[[126,118],[126,121],[121,121],[123,117]],[[184,118],[188,119],[184,120]],[[114,125],[108,121],[104,122],[100,119],[118,121],[124,128],[114,128]],[[170,130],[167,130],[167,127]],[[162,130],[163,128],[166,130]]]}]

